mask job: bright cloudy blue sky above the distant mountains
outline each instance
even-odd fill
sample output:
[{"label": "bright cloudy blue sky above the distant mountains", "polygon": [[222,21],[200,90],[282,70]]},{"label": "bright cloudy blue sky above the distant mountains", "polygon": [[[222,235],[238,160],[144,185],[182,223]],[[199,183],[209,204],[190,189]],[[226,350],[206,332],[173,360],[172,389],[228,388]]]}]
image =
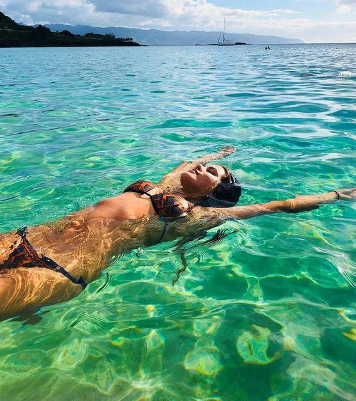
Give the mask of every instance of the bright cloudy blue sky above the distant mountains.
[{"label": "bright cloudy blue sky above the distant mountains", "polygon": [[24,24],[226,31],[356,42],[356,0],[0,0]]}]

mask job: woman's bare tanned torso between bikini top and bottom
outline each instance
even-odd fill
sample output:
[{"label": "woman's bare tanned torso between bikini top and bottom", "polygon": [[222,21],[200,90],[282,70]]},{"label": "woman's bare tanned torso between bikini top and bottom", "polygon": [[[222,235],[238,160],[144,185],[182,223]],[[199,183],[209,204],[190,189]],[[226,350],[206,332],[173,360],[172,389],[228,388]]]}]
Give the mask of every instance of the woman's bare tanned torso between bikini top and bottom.
[{"label": "woman's bare tanned torso between bikini top and bottom", "polygon": [[[115,256],[150,246],[161,238],[165,222],[152,205],[152,196],[161,193],[157,187],[147,194],[127,191],[54,223],[29,227],[27,237],[39,254],[56,261],[71,274],[79,272],[90,282]],[[183,206],[188,207],[188,202],[181,199]],[[0,238],[0,263],[16,240],[15,233]]]}]

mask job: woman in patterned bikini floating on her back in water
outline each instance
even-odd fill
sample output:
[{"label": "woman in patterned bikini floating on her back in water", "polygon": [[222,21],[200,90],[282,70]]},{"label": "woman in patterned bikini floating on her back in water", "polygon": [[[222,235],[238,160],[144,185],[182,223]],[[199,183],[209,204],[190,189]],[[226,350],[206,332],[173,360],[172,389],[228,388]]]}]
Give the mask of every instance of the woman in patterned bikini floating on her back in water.
[{"label": "woman in patterned bikini floating on her back in water", "polygon": [[0,317],[76,297],[115,258],[160,241],[196,235],[226,219],[298,213],[356,199],[356,188],[235,206],[241,186],[225,166],[207,164],[234,148],[184,162],[159,184],[137,181],[122,194],[54,223],[0,235]]}]

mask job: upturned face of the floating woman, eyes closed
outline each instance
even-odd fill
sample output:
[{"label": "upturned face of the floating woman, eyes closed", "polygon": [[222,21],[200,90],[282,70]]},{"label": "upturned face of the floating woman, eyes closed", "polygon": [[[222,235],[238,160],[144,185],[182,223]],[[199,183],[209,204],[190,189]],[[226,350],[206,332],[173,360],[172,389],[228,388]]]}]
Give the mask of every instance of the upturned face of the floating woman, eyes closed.
[{"label": "upturned face of the floating woman, eyes closed", "polygon": [[198,164],[192,170],[181,173],[181,186],[187,192],[209,194],[218,186],[224,175],[224,168],[218,164]]}]

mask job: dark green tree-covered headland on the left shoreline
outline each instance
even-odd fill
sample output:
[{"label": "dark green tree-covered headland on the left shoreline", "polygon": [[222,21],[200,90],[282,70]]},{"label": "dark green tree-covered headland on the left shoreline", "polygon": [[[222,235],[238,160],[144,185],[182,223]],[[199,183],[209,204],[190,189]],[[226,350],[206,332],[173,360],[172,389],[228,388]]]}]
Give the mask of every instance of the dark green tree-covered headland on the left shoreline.
[{"label": "dark green tree-covered headland on the left shoreline", "polygon": [[140,46],[132,38],[115,38],[113,33],[75,35],[70,31],[51,32],[45,26],[17,24],[0,12],[0,47]]}]

